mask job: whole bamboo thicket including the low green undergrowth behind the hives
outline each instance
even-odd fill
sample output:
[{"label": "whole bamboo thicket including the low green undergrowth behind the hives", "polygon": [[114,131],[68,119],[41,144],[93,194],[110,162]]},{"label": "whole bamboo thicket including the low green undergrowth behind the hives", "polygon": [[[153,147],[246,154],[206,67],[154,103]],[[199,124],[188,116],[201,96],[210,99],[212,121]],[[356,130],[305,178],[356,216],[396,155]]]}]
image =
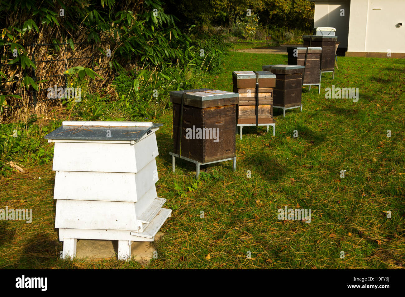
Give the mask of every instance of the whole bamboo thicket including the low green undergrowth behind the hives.
[{"label": "whole bamboo thicket including the low green undergrowth behind the hives", "polygon": [[[28,126],[49,126],[49,117],[44,120],[40,114],[60,104],[66,108],[60,112],[71,120],[150,120],[163,114],[170,107],[168,93],[196,88],[206,72],[219,72],[227,48],[215,34],[201,39],[192,30],[181,32],[179,20],[164,13],[160,0],[47,0],[37,5],[0,2],[5,25],[0,28],[0,60],[8,64],[0,68],[0,124],[19,126],[25,143],[45,143]],[[39,51],[27,46],[39,41],[55,45]],[[65,58],[71,63],[66,71]],[[47,89],[54,85],[81,88],[81,100],[47,99]],[[3,130],[8,131],[6,126]],[[25,150],[11,137],[2,136],[6,145],[0,147],[0,164]]]}]

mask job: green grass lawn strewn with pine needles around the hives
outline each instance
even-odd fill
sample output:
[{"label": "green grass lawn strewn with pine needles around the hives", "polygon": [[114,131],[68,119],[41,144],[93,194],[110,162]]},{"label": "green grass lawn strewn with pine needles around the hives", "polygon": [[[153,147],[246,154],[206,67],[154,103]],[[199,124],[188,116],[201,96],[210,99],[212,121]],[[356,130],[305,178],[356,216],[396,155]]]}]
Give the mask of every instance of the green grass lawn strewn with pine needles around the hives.
[{"label": "green grass lawn strewn with pine needles around the hives", "polygon": [[[280,63],[286,55],[231,52],[205,87],[232,91],[232,71]],[[303,88],[303,112],[283,118],[275,110],[276,136],[265,127],[245,127],[242,140],[237,135],[236,172],[231,161],[202,166],[217,178],[197,182],[195,167],[183,160],[172,173],[171,111],[154,120],[164,123],[157,132],[157,191],[173,214],[147,268],[403,268],[405,59],[338,63],[335,80],[324,74],[320,95],[317,87]],[[359,101],[325,99],[332,84],[359,88]],[[59,259],[55,173],[51,164],[27,167],[0,180],[1,205],[33,209],[30,224],[0,221],[0,268],[142,267]],[[311,209],[311,222],[277,219],[285,206]]]}]

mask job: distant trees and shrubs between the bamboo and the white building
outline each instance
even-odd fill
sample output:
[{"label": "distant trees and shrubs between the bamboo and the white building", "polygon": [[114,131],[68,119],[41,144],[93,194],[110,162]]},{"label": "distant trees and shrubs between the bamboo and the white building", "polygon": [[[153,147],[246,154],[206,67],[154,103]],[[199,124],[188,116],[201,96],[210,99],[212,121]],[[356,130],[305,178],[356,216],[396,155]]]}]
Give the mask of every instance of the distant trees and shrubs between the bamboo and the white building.
[{"label": "distant trees and shrubs between the bamboo and the white building", "polygon": [[[306,0],[167,0],[166,11],[205,32],[226,28],[245,40],[295,42],[313,29],[314,4]],[[285,36],[284,34],[287,34]],[[290,38],[288,35],[293,34]]]}]

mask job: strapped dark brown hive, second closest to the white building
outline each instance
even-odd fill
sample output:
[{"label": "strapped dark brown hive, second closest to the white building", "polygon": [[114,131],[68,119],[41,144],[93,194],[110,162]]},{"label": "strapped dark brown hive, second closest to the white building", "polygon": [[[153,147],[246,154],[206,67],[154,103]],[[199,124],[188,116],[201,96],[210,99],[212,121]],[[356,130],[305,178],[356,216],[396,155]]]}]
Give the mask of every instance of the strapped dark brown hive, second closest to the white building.
[{"label": "strapped dark brown hive, second closest to the white building", "polygon": [[288,65],[305,66],[303,84],[319,84],[322,47],[288,46]]}]

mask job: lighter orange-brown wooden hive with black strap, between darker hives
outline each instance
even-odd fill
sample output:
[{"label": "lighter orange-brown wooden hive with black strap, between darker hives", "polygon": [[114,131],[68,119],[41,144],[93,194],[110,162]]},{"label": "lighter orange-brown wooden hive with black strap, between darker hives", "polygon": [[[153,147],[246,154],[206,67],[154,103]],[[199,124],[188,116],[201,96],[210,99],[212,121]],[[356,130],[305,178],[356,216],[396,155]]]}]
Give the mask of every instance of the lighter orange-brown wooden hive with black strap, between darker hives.
[{"label": "lighter orange-brown wooden hive with black strap, between darker hives", "polygon": [[235,71],[233,91],[239,93],[237,124],[273,124],[275,75],[269,71]]}]

